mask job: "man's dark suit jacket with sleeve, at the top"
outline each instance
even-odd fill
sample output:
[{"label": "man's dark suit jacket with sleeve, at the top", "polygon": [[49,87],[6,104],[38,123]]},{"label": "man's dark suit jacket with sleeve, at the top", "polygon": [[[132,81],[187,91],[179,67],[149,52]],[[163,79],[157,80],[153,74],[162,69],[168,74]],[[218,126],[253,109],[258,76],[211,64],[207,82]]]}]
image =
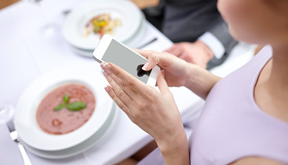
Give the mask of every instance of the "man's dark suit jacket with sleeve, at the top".
[{"label": "man's dark suit jacket with sleeve, at the top", "polygon": [[194,42],[204,32],[214,34],[225,47],[225,54],[221,59],[213,58],[208,69],[223,63],[237,43],[217,10],[217,0],[160,0],[159,5],[143,12],[175,43]]}]

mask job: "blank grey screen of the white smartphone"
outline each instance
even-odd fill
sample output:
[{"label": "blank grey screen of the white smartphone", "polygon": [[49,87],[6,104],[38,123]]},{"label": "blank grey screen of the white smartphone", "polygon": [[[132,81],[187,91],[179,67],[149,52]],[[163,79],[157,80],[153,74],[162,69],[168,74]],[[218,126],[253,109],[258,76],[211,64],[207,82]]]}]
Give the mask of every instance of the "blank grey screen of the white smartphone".
[{"label": "blank grey screen of the white smartphone", "polygon": [[118,65],[143,83],[147,83],[148,76],[151,73],[151,71],[145,72],[141,69],[144,63],[146,63],[145,58],[135,54],[113,39],[104,53],[102,60],[107,63]]}]

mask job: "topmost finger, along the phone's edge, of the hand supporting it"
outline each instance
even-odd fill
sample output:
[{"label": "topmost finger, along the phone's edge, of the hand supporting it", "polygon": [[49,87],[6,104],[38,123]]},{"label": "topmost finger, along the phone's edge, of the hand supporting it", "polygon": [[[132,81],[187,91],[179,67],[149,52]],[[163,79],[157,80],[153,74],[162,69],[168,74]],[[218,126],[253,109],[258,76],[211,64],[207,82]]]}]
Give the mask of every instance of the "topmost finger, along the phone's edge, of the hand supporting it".
[{"label": "topmost finger, along the phone's edge, of the hand supporting it", "polygon": [[146,85],[145,83],[138,80],[137,78],[126,72],[124,69],[118,67],[113,63],[107,63],[106,65],[102,64],[101,67],[105,71],[111,72],[111,74],[114,74],[115,76],[120,78],[120,80],[122,80],[124,84],[126,84],[128,87],[130,87],[142,96],[146,96],[151,90],[150,86]]}]

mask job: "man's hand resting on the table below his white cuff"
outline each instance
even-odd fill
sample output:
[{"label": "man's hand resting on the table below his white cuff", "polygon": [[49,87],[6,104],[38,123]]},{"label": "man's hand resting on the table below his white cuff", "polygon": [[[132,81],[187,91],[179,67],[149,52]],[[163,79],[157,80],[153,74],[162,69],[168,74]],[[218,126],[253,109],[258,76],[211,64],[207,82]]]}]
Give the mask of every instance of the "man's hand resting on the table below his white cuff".
[{"label": "man's hand resting on the table below his white cuff", "polygon": [[200,67],[206,68],[207,63],[213,58],[214,54],[210,48],[202,41],[194,43],[181,42],[175,43],[165,52],[174,54],[184,59],[188,63],[195,63]]}]

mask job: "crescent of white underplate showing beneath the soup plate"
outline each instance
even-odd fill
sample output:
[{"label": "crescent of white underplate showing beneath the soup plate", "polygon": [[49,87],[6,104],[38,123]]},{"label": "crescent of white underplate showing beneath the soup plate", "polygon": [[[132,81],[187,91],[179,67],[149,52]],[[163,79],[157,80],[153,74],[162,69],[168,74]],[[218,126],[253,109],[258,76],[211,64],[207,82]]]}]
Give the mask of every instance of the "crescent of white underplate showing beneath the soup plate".
[{"label": "crescent of white underplate showing beneath the soup plate", "polygon": [[[105,129],[101,128],[99,133],[95,133],[94,135],[89,137],[84,142],[76,146],[72,146],[71,148],[67,148],[67,149],[59,150],[59,151],[43,151],[43,150],[38,150],[36,148],[33,148],[32,146],[29,146],[25,144],[25,142],[23,144],[25,148],[27,148],[27,150],[30,151],[31,153],[34,153],[35,155],[49,158],[49,159],[62,159],[62,158],[77,155],[79,153],[86,151],[87,149],[91,148],[94,145],[102,144],[102,142],[104,142],[105,137],[107,137],[113,131],[115,120],[118,117],[117,110],[118,109],[116,109],[116,105],[113,104],[112,111],[114,113],[111,113],[111,115],[109,116],[109,120],[107,120],[107,122],[105,123],[105,126],[102,127]],[[108,129],[106,129],[106,127]]]}]

